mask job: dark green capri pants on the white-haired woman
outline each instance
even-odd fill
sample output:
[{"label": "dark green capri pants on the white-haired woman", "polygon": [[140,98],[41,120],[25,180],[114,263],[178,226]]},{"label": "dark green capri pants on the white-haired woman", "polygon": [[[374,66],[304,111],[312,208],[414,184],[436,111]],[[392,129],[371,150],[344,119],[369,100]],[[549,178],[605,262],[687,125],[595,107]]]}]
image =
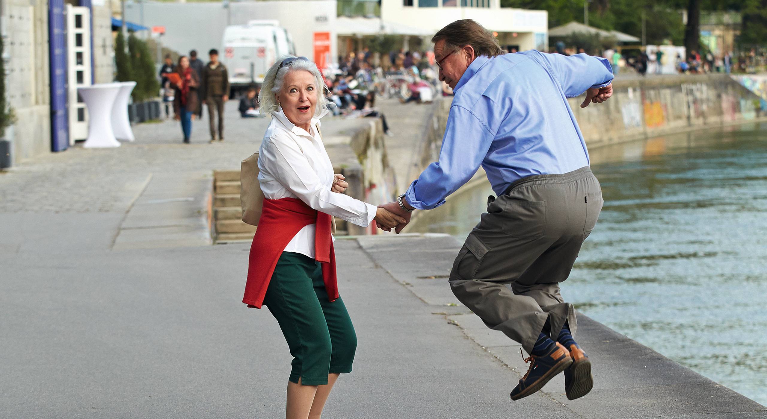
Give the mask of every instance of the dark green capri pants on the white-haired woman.
[{"label": "dark green capri pants on the white-haired woman", "polygon": [[291,382],[326,385],[328,374],[351,372],[357,335],[344,301],[328,300],[322,267],[311,257],[282,252],[266,290],[267,306],[293,355]]}]

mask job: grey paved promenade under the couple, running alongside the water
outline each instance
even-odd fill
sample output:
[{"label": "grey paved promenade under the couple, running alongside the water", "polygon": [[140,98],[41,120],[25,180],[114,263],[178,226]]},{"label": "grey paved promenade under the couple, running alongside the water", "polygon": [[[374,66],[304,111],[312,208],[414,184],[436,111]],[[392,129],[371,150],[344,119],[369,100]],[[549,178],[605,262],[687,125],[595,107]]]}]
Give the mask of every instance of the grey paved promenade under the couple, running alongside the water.
[{"label": "grey paved promenade under the couple, running alongside the water", "polygon": [[[268,310],[240,303],[249,245],[201,234],[210,172],[255,151],[266,122],[232,117],[214,145],[198,122],[189,146],[176,123],[137,126],[134,144],[0,173],[0,418],[283,417],[287,345]],[[324,417],[767,418],[584,317],[594,391],[568,401],[560,376],[512,402],[524,362],[456,304],[445,279],[456,241],[336,244],[359,348]]]}]

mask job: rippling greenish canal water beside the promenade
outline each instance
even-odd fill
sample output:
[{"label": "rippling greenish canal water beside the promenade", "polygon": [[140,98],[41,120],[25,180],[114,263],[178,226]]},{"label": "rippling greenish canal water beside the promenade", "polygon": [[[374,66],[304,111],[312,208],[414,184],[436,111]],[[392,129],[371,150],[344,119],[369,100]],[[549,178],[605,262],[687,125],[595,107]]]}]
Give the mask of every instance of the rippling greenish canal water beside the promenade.
[{"label": "rippling greenish canal water beside the promenade", "polygon": [[[767,125],[601,147],[591,168],[604,209],[565,300],[767,405]],[[409,231],[463,241],[493,195],[464,189]]]}]

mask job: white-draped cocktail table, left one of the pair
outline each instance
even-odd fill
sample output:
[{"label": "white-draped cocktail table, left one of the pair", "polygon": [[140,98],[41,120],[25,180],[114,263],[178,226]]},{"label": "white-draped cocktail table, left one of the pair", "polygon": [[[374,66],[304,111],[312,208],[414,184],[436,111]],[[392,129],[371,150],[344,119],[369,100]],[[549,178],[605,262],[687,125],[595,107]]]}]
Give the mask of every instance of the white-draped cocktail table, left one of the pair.
[{"label": "white-draped cocktail table, left one of the pair", "polygon": [[122,83],[77,87],[88,108],[88,138],[83,145],[86,149],[120,146],[112,131],[112,107],[120,88]]}]

